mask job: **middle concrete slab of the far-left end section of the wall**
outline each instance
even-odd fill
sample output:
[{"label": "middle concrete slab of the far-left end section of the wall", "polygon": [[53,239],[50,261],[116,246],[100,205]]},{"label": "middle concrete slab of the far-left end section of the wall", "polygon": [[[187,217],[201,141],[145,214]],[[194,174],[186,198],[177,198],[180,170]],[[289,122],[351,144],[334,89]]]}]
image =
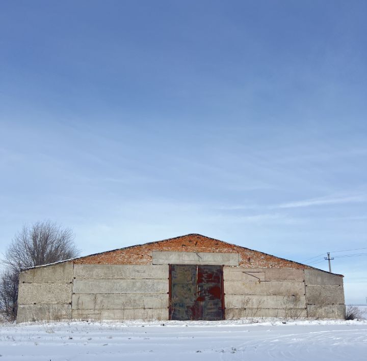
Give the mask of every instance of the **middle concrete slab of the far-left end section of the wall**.
[{"label": "middle concrete slab of the far-left end section of the wall", "polygon": [[69,304],[71,283],[20,283],[18,304]]}]

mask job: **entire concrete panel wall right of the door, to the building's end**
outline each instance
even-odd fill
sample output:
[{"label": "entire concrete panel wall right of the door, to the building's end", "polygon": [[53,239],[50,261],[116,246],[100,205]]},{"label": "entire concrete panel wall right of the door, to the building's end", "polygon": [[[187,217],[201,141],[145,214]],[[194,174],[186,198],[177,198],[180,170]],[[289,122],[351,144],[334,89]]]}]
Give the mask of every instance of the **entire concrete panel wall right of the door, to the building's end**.
[{"label": "entire concrete panel wall right of the door, to the building's end", "polygon": [[345,317],[343,277],[319,269],[224,267],[226,318]]}]

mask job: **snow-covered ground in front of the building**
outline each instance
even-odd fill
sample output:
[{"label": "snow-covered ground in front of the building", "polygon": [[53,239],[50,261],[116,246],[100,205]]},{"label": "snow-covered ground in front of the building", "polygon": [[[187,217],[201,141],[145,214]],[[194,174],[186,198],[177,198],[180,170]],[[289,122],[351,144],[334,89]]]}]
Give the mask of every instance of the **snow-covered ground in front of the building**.
[{"label": "snow-covered ground in front of the building", "polygon": [[367,360],[367,321],[0,324],[5,360]]}]

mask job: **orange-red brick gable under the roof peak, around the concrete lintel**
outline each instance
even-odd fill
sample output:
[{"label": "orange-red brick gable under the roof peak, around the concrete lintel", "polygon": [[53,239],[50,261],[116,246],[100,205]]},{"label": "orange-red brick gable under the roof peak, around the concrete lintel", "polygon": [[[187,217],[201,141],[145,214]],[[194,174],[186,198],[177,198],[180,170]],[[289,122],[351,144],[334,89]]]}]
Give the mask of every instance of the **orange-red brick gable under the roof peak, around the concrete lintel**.
[{"label": "orange-red brick gable under the roof peak, around the concrete lintel", "polygon": [[84,264],[151,264],[151,251],[175,252],[223,252],[240,253],[240,266],[249,268],[311,268],[309,266],[252,251],[240,246],[230,245],[221,240],[200,234],[188,234],[176,238],[132,246],[120,250],[103,252],[74,260]]}]

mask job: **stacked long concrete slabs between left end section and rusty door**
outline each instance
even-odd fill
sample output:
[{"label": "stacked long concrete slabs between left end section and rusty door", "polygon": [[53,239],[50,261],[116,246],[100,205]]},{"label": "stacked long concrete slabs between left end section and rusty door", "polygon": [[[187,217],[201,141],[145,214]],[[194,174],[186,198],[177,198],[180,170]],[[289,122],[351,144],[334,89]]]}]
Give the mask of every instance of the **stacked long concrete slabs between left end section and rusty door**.
[{"label": "stacked long concrete slabs between left end section and rusty door", "polygon": [[75,264],[72,317],[168,319],[168,265]]}]

